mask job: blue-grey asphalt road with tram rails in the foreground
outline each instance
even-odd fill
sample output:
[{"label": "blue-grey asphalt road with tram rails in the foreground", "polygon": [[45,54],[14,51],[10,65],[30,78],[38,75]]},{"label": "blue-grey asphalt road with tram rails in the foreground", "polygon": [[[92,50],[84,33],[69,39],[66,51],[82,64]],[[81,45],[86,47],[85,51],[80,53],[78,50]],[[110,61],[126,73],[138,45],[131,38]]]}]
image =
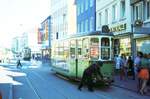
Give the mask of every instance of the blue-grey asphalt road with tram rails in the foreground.
[{"label": "blue-grey asphalt road with tram rails in the foreground", "polygon": [[77,90],[78,82],[69,81],[51,71],[48,64],[29,62],[22,69],[9,66],[13,75],[13,99],[149,99],[135,92],[111,86],[89,92]]}]

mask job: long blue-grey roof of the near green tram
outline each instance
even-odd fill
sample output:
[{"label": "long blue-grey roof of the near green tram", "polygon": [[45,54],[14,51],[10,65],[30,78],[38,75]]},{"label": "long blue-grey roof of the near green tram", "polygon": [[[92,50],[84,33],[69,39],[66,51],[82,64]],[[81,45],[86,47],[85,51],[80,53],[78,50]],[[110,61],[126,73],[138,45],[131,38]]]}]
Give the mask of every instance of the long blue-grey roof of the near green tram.
[{"label": "long blue-grey roof of the near green tram", "polygon": [[113,36],[112,32],[103,33],[102,31],[92,31],[92,32],[82,32],[71,35],[70,37],[82,37],[82,36],[94,36],[94,35],[104,35],[104,36]]}]

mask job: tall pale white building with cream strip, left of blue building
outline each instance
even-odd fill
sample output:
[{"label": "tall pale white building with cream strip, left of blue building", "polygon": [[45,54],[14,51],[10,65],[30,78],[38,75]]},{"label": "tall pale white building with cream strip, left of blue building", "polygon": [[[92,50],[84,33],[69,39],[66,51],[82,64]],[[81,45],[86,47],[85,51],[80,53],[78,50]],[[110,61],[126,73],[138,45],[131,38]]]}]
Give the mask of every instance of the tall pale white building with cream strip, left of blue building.
[{"label": "tall pale white building with cream strip, left of blue building", "polygon": [[74,0],[51,0],[52,41],[76,33],[74,2]]}]

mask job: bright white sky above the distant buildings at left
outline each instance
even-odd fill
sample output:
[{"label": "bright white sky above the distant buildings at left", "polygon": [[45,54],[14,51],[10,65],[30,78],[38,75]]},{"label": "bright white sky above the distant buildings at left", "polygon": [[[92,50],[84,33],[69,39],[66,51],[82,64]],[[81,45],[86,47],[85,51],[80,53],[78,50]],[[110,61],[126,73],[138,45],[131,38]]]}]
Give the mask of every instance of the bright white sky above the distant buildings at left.
[{"label": "bright white sky above the distant buildings at left", "polygon": [[0,46],[38,26],[50,15],[50,0],[0,0]]}]

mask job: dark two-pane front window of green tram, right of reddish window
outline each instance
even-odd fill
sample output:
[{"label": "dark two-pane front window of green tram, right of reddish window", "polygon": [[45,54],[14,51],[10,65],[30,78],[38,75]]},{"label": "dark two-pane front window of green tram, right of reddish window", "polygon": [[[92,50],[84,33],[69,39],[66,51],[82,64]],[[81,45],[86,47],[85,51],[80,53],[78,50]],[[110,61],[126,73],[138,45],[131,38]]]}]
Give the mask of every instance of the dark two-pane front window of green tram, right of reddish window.
[{"label": "dark two-pane front window of green tram, right of reddish window", "polygon": [[101,39],[101,59],[108,60],[110,58],[109,38]]}]

